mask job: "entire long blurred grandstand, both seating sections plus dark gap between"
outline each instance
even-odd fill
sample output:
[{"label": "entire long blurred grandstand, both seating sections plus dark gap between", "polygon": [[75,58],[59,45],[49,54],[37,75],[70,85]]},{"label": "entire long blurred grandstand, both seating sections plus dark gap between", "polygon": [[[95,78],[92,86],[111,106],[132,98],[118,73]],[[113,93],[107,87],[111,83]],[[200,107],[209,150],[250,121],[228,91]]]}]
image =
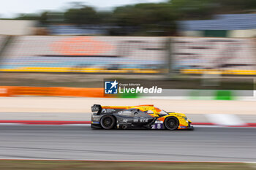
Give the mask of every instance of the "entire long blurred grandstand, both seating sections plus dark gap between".
[{"label": "entire long blurred grandstand, both seating sections plus dark gap between", "polygon": [[255,47],[255,39],[13,36],[0,72],[256,75]]}]

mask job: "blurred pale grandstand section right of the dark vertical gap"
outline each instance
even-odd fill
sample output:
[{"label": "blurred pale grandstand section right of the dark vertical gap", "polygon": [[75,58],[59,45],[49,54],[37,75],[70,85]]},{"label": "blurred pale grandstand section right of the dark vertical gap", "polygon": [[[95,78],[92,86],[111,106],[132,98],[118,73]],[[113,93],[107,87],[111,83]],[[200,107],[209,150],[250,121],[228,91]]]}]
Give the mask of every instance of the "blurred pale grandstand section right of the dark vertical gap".
[{"label": "blurred pale grandstand section right of the dark vertical gap", "polygon": [[256,74],[253,39],[173,38],[173,69],[186,74]]}]

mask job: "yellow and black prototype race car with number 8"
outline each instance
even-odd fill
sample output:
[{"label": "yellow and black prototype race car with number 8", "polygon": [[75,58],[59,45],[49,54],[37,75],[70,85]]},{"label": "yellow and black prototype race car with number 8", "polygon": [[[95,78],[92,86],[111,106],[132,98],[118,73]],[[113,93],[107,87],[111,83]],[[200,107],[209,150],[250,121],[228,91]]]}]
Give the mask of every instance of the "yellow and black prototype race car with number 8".
[{"label": "yellow and black prototype race car with number 8", "polygon": [[91,128],[144,128],[144,129],[193,129],[186,115],[165,112],[154,105],[133,107],[101,106],[91,107]]}]

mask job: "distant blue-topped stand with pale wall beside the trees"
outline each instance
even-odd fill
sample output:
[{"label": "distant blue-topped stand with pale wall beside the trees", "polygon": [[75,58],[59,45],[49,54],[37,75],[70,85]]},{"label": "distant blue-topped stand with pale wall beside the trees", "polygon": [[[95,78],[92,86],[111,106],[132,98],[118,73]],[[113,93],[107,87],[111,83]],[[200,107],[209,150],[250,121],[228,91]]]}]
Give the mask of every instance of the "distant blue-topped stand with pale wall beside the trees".
[{"label": "distant blue-topped stand with pale wall beside the trees", "polygon": [[184,20],[178,25],[184,36],[256,36],[256,14],[215,15],[212,20]]}]

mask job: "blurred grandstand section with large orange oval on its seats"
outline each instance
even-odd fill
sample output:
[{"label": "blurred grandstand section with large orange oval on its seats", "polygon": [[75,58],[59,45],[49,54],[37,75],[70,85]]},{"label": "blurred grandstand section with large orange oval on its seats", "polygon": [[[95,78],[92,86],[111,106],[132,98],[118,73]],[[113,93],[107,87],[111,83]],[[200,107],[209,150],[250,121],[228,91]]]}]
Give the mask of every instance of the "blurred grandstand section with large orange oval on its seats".
[{"label": "blurred grandstand section with large orange oval on its seats", "polygon": [[160,73],[166,38],[15,36],[2,56],[2,72]]}]

